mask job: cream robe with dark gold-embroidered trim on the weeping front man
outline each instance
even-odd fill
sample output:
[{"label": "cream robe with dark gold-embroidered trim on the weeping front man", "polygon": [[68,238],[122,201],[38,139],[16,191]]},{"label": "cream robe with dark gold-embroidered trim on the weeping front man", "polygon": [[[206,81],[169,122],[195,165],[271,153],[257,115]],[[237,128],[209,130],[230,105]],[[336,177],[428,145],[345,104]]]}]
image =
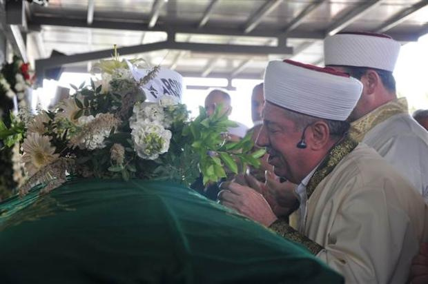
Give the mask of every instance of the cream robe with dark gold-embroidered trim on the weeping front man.
[{"label": "cream robe with dark gold-embroidered trim on the weeping front man", "polygon": [[346,283],[405,283],[419,244],[428,240],[428,206],[375,150],[346,139],[307,186],[301,231],[270,227],[305,245]]}]

